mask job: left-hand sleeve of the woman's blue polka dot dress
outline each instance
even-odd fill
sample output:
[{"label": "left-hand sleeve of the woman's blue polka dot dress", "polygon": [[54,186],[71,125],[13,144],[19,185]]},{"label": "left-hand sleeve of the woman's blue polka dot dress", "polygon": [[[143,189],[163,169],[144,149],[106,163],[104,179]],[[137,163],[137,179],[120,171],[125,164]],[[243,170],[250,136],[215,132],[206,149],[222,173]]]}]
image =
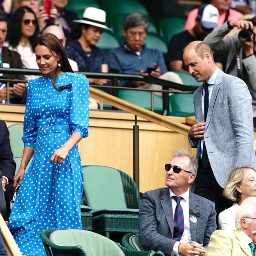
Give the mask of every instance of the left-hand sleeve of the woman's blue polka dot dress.
[{"label": "left-hand sleeve of the woman's blue polka dot dress", "polygon": [[33,80],[28,82],[27,86],[27,100],[26,100],[26,109],[24,117],[24,135],[22,140],[24,142],[24,147],[35,147],[35,143],[38,136],[38,127],[37,121],[32,111],[32,88]]}]

